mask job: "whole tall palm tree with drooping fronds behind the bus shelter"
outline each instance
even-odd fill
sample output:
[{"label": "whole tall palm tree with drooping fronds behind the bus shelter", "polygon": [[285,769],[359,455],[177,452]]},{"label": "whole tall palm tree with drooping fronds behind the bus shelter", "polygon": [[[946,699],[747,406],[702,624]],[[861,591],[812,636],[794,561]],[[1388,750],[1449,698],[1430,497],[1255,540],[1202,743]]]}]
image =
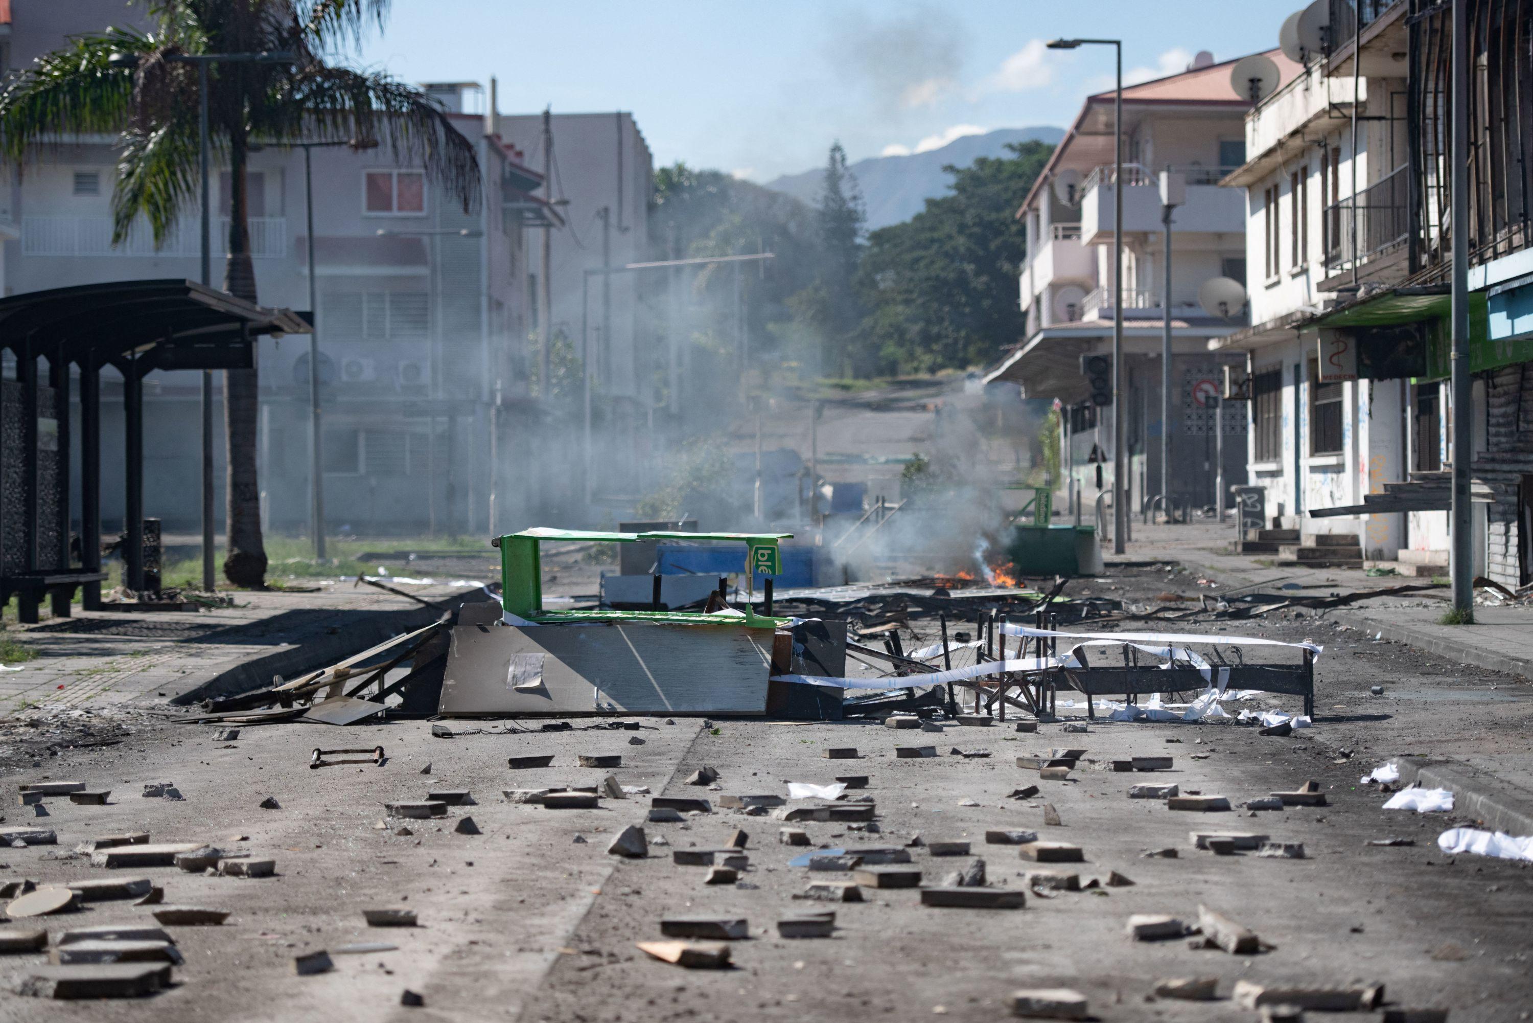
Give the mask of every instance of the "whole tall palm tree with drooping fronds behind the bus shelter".
[{"label": "whole tall palm tree with drooping fronds behind the bus shelter", "polygon": [[[118,133],[112,193],[113,244],[149,222],[161,244],[182,215],[196,215],[198,54],[287,52],[291,63],[213,63],[208,137],[230,169],[228,259],[224,290],[256,301],[250,261],[245,167],[251,143],[299,140],[379,143],[472,212],[480,201],[474,143],[419,89],[323,60],[382,28],[389,0],[150,0],[150,32],[107,28],[71,37],[38,57],[0,94],[0,156],[21,163],[37,144],[75,133]],[[130,55],[129,60],[113,55]],[[136,60],[133,60],[136,58]],[[227,370],[228,434],[224,575],[236,586],[265,583],[261,488],[256,479],[256,370]]]}]

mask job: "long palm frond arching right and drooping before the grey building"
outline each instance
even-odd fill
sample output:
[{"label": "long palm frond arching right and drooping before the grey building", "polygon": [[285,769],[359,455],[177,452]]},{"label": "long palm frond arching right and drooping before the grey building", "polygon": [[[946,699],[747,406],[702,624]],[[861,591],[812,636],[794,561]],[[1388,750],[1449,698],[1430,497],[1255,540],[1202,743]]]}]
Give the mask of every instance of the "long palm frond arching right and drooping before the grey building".
[{"label": "long palm frond arching right and drooping before the grey building", "polygon": [[481,181],[474,143],[440,103],[379,72],[311,64],[282,81],[285,95],[251,110],[251,132],[273,141],[377,141],[396,161],[420,163],[426,176],[478,209]]}]

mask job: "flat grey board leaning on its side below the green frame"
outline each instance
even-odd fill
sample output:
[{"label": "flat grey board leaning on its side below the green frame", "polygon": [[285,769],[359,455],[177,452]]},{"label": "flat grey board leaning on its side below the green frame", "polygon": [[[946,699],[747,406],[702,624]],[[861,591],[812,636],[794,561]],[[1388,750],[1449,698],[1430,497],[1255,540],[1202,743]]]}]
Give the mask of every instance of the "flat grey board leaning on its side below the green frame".
[{"label": "flat grey board leaning on its side below the green frame", "polygon": [[615,621],[452,629],[443,715],[762,715],[771,629]]}]

